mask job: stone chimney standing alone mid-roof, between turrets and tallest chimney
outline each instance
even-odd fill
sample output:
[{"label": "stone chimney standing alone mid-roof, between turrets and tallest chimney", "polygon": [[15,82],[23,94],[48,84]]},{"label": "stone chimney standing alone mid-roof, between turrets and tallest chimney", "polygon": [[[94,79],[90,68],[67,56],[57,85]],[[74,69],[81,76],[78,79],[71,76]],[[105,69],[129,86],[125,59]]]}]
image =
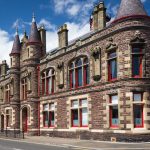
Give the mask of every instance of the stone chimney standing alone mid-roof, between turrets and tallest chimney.
[{"label": "stone chimney standing alone mid-roof, between turrets and tallest chimney", "polygon": [[64,48],[68,46],[68,29],[66,24],[61,26],[58,30],[58,42],[59,48]]}]

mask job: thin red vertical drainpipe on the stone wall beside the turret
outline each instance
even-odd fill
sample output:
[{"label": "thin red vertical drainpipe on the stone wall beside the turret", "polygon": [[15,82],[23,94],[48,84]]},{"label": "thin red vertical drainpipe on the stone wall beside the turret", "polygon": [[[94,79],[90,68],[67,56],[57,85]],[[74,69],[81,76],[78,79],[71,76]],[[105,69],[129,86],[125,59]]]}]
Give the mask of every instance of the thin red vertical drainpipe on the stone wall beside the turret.
[{"label": "thin red vertical drainpipe on the stone wall beside the turret", "polygon": [[[38,73],[38,97],[40,98],[40,65],[37,66]],[[38,101],[38,136],[40,136],[40,101]]]}]

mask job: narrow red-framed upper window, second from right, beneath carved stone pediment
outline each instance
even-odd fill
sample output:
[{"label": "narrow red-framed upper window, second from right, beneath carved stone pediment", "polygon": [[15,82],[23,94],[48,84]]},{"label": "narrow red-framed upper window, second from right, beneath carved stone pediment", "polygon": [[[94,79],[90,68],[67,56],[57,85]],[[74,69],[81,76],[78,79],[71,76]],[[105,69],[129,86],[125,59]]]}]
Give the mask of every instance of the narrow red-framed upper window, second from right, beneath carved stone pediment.
[{"label": "narrow red-framed upper window, second from right, beneath carved stone pediment", "polygon": [[108,53],[108,80],[117,79],[117,54],[116,51]]}]

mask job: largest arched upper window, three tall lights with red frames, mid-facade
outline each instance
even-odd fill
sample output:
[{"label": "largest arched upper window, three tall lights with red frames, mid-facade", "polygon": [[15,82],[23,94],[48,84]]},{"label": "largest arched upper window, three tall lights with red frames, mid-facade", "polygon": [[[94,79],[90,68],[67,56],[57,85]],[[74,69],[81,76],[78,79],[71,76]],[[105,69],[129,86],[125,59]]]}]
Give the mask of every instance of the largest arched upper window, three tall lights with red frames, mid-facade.
[{"label": "largest arched upper window, three tall lights with red frames, mid-facade", "polygon": [[70,88],[78,88],[89,84],[89,61],[87,58],[78,58],[69,66]]}]

